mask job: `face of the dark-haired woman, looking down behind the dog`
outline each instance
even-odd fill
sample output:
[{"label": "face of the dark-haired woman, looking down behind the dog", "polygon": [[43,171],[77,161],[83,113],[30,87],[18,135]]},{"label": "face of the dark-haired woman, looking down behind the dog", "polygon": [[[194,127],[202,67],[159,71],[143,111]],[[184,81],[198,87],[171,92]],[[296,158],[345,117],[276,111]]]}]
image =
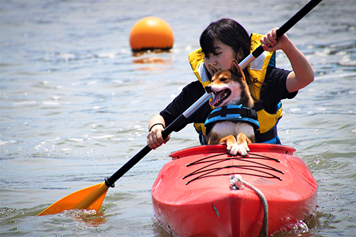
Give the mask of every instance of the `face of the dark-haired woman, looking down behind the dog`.
[{"label": "face of the dark-haired woman, looking down behind the dog", "polygon": [[[240,62],[242,57],[238,53],[238,57],[236,57],[236,53],[234,50],[220,41],[214,40],[214,53],[209,53],[204,56],[204,64],[205,67],[209,70],[209,63],[214,65],[218,70],[226,70],[230,69],[231,60],[237,60]],[[211,74],[210,70],[209,73]]]}]

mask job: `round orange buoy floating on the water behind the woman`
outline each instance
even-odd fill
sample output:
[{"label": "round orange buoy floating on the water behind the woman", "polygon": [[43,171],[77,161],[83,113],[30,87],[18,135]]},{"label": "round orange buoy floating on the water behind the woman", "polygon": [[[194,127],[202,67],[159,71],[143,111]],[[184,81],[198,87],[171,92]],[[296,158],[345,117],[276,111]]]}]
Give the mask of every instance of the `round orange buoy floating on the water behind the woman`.
[{"label": "round orange buoy floating on the water behind the woman", "polygon": [[154,16],[137,21],[130,31],[132,51],[149,49],[169,49],[173,47],[172,28],[166,21]]}]

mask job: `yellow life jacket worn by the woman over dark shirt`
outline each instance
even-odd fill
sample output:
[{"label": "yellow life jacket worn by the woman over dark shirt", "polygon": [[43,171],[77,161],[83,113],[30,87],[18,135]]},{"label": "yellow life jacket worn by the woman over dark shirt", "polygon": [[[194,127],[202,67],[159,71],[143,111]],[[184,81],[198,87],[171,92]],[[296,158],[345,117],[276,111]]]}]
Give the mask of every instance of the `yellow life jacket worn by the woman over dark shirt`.
[{"label": "yellow life jacket worn by the woman over dark shirt", "polygon": [[[261,45],[260,39],[263,37],[261,34],[252,33],[251,35],[251,52]],[[253,62],[248,65],[248,73],[253,78],[256,78],[258,82],[255,83],[254,87],[250,88],[251,94],[259,100],[261,87],[263,81],[265,80],[266,71],[268,65],[275,66],[276,54],[274,52],[264,51],[261,56],[253,60]],[[189,63],[192,66],[194,74],[197,76],[201,85],[205,88],[209,85],[210,80],[207,73],[209,73],[204,66],[204,53],[201,48],[189,53]],[[258,122],[260,128],[256,132],[256,140],[258,142],[268,142],[268,143],[280,143],[276,125],[282,117],[283,106],[280,102],[276,107],[276,112],[270,114],[263,109],[261,102],[255,102],[255,110],[258,115]],[[194,123],[194,127],[200,135],[205,136],[204,123]]]}]

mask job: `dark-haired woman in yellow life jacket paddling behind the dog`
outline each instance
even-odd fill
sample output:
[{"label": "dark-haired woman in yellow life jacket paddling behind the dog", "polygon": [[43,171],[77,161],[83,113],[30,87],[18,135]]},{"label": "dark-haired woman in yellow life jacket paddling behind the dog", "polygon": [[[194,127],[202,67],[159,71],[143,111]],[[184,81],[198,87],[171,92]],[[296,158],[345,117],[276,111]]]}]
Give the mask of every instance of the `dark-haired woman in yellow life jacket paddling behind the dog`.
[{"label": "dark-haired woman in yellow life jacket paddling behind the dog", "polygon": [[[260,129],[256,131],[258,142],[281,144],[277,134],[277,123],[282,117],[281,100],[291,99],[297,95],[298,90],[314,80],[313,68],[307,58],[283,35],[276,41],[277,28],[273,28],[266,36],[252,34],[248,36],[246,30],[232,19],[221,19],[212,22],[200,36],[201,49],[189,54],[189,62],[199,80],[187,85],[164,110],[152,117],[147,135],[147,144],[156,149],[169,140],[162,138],[162,131],[172,123],[175,118],[204,95],[204,86],[209,84],[211,73],[207,68],[209,63],[219,70],[230,68],[231,60],[239,63],[253,51],[260,41],[265,51],[269,52],[258,57],[244,74],[255,100],[255,110],[258,115]],[[275,53],[281,49],[290,60],[293,70],[283,70],[275,67]],[[200,138],[204,136],[204,122],[211,112],[208,103],[202,105],[197,112],[191,115],[187,123],[194,122]],[[178,127],[178,132],[186,124]],[[200,139],[201,141],[203,139]]]}]

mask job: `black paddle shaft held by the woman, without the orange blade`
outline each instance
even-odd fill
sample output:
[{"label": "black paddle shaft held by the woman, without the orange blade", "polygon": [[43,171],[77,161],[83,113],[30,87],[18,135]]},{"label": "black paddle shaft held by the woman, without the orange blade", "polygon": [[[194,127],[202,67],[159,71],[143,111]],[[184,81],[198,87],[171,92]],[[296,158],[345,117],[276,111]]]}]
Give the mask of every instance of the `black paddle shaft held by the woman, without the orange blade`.
[{"label": "black paddle shaft held by the woman, without the orange blade", "polygon": [[[300,21],[300,19],[303,19],[303,17],[308,14],[311,10],[314,9],[315,6],[317,6],[321,1],[323,0],[311,0],[306,4],[302,9],[300,9],[291,19],[289,19],[286,23],[281,26],[277,30],[277,39],[283,36],[284,33],[286,33],[290,28],[292,28],[295,23]],[[258,46],[249,56],[247,56],[241,63],[239,63],[239,66],[241,69],[244,69],[249,65],[253,60],[258,58],[263,53],[263,48],[262,46]],[[205,93],[197,102],[194,102],[194,104],[189,107],[185,112],[183,112],[182,115],[179,115],[174,122],[172,122],[168,127],[166,127],[163,132],[162,132],[162,137],[165,139],[170,135],[177,127],[182,125],[184,122],[187,121],[188,117],[192,115],[194,112],[196,112],[201,105],[203,105],[205,102],[207,102],[211,98],[211,95],[208,93]],[[124,164],[115,174],[112,174],[110,178],[105,179],[105,184],[106,186],[114,186],[115,181],[117,179],[120,179],[122,175],[124,175],[126,172],[128,172],[132,167],[137,164],[137,162],[140,162],[140,160],[145,157],[148,152],[151,151],[151,148],[146,145],[143,149],[140,150],[137,154],[135,154],[134,157],[132,157],[126,164]]]}]

